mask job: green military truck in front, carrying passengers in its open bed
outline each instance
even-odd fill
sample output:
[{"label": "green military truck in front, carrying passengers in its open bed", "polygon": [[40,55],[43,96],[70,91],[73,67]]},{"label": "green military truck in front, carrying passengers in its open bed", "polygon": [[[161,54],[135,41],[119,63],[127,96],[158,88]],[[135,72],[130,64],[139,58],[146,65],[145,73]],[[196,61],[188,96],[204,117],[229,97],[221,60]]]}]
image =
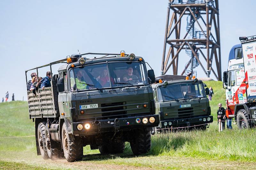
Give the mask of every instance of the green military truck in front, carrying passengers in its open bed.
[{"label": "green military truck in front, carrying passengers in its open bed", "polygon": [[[88,54],[97,57],[88,59]],[[52,66],[60,63],[51,87],[38,89],[36,95],[28,91],[37,154],[44,159],[65,156],[73,162],[82,159],[86,145],[102,154],[121,153],[126,141],[135,155],[148,152],[159,117],[150,86],[155,74],[147,71],[143,58],[125,53],[73,54],[27,70],[26,80],[28,72],[48,66],[52,74]]]}]

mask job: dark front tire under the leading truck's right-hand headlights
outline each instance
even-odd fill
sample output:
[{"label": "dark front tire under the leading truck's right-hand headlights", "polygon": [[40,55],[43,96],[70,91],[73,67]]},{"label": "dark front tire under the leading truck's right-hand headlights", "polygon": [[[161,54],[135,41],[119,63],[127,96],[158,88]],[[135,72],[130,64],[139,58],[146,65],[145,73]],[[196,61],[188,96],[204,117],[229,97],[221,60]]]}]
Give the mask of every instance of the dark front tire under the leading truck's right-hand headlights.
[{"label": "dark front tire under the leading truck's right-hand headlights", "polygon": [[130,146],[134,155],[148,153],[151,147],[151,133],[145,129],[135,131],[133,138],[130,141]]}]

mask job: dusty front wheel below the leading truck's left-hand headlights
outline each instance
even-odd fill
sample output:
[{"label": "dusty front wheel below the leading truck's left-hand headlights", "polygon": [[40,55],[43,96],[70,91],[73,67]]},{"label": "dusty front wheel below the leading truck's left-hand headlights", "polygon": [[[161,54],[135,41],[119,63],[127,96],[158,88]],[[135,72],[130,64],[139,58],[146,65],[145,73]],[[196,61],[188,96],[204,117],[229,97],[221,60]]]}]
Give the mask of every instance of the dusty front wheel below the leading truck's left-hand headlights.
[{"label": "dusty front wheel below the leading truck's left-hand headlights", "polygon": [[82,160],[83,158],[83,143],[79,137],[73,137],[73,142],[67,137],[68,131],[64,123],[61,131],[61,142],[63,146],[64,156],[68,162]]}]

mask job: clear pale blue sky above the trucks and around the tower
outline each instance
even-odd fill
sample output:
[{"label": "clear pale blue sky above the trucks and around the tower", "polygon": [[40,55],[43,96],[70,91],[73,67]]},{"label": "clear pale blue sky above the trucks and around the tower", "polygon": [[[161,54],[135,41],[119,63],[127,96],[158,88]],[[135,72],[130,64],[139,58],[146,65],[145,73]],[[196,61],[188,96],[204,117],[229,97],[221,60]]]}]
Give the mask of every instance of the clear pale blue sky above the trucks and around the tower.
[{"label": "clear pale blue sky above the trucks and around the tower", "polygon": [[[160,75],[168,0],[0,0],[0,97],[26,99],[25,70],[77,53],[135,53]],[[222,71],[239,36],[255,35],[256,1],[220,0]],[[189,58],[179,60],[178,73]],[[39,72],[44,76],[45,70]],[[197,68],[198,76],[202,69]],[[170,71],[169,74],[172,74]],[[214,78],[214,75],[211,74]],[[9,98],[9,101],[11,98]]]}]

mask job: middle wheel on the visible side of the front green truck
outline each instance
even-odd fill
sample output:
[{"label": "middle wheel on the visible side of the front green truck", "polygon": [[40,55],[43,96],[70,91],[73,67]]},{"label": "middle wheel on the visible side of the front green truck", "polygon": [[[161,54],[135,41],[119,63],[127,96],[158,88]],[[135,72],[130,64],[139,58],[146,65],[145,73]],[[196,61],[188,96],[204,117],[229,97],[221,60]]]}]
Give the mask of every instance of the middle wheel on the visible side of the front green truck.
[{"label": "middle wheel on the visible side of the front green truck", "polygon": [[50,140],[47,139],[48,136],[50,136],[50,134],[47,134],[48,133],[47,125],[48,124],[46,124],[46,127],[45,127],[45,145],[46,145],[47,155],[51,160],[57,160],[57,159],[63,158],[63,150],[61,149],[61,145],[60,145],[60,148],[52,148]]}]

